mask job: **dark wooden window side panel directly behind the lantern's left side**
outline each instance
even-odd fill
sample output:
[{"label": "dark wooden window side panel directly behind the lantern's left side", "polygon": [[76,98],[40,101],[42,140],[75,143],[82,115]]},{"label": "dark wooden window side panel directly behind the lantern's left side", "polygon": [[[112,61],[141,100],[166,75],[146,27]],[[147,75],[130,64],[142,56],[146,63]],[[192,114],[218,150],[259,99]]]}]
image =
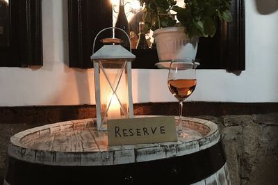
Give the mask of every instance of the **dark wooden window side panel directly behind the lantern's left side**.
[{"label": "dark wooden window side panel directly behind the lantern's left side", "polygon": [[[90,68],[93,39],[101,29],[112,25],[110,1],[68,0],[68,6],[70,67]],[[99,47],[97,42],[96,50]]]}]

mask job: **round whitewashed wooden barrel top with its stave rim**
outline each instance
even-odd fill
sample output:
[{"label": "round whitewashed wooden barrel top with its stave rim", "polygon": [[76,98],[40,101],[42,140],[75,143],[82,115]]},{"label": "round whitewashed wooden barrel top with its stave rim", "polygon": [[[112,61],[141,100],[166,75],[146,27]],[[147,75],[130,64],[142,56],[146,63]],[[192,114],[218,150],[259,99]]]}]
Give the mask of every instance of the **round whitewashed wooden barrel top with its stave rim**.
[{"label": "round whitewashed wooden barrel top with its stave rim", "polygon": [[104,166],[183,156],[220,140],[215,123],[183,117],[188,137],[178,142],[108,146],[107,132],[97,131],[95,123],[95,119],[71,120],[19,132],[10,138],[8,155],[46,165]]}]

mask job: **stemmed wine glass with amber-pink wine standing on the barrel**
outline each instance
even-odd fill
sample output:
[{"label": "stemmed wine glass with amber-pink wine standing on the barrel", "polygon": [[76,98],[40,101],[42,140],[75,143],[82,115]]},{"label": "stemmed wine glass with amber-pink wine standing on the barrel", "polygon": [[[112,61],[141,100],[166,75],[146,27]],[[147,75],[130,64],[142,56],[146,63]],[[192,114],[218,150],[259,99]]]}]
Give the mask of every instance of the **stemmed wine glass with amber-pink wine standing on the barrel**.
[{"label": "stemmed wine glass with amber-pink wine standing on the barrel", "polygon": [[183,61],[172,61],[168,73],[168,88],[172,95],[179,100],[179,122],[177,124],[177,134],[179,137],[186,137],[181,126],[181,116],[183,111],[183,101],[189,97],[196,86],[196,70],[193,59]]}]

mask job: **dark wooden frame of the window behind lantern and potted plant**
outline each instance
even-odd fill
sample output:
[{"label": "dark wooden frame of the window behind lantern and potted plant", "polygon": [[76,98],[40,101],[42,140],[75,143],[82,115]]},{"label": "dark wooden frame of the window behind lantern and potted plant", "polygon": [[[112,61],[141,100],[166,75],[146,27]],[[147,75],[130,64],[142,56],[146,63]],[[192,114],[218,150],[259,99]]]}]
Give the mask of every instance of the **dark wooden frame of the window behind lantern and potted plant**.
[{"label": "dark wooden frame of the window behind lantern and potted plant", "polygon": [[[69,66],[90,68],[95,35],[112,25],[110,0],[68,0],[68,6]],[[220,23],[215,37],[200,38],[196,57],[201,63],[199,69],[245,70],[245,0],[231,0],[231,13],[234,21]],[[156,69],[156,50],[132,52],[136,54],[133,68]]]}]

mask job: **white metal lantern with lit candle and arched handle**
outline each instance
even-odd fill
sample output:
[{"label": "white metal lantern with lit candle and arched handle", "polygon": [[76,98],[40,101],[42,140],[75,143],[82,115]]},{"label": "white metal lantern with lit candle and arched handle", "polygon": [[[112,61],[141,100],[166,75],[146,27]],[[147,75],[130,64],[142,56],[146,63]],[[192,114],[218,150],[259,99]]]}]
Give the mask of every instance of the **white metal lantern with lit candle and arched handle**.
[{"label": "white metal lantern with lit candle and arched handle", "polygon": [[[103,29],[119,29],[109,27]],[[122,29],[119,29],[123,31]],[[121,45],[104,45],[93,54],[91,60],[94,64],[95,74],[95,99],[97,109],[97,129],[107,129],[107,120],[120,118],[133,118],[133,102],[131,87],[131,61],[136,56]],[[124,32],[124,31],[123,31]],[[124,32],[125,33],[125,32]],[[129,35],[126,34],[129,39]],[[115,38],[104,39],[104,43]],[[129,40],[129,44],[130,44]],[[131,48],[131,47],[130,47]]]}]

